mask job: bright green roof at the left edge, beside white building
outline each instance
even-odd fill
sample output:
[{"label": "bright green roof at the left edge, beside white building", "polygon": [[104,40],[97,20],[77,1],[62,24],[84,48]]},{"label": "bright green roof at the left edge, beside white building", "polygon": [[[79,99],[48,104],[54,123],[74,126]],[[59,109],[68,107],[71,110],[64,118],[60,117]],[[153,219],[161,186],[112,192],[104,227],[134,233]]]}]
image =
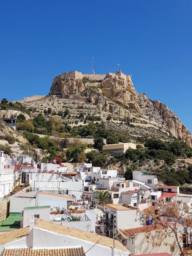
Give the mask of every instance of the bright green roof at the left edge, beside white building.
[{"label": "bright green roof at the left edge, beside white building", "polygon": [[20,227],[20,221],[23,219],[19,212],[12,212],[6,218],[0,222],[0,231],[14,230]]}]

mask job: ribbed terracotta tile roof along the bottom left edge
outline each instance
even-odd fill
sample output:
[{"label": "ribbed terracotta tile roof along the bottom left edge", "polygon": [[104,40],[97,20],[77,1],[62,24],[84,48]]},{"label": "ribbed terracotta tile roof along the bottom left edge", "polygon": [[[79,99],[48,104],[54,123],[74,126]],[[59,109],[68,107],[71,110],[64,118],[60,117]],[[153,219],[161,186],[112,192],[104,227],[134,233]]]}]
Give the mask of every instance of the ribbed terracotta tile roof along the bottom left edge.
[{"label": "ribbed terracotta tile roof along the bottom left edge", "polygon": [[17,248],[4,249],[2,256],[85,256],[83,246],[79,248],[60,248],[60,249],[38,249]]}]

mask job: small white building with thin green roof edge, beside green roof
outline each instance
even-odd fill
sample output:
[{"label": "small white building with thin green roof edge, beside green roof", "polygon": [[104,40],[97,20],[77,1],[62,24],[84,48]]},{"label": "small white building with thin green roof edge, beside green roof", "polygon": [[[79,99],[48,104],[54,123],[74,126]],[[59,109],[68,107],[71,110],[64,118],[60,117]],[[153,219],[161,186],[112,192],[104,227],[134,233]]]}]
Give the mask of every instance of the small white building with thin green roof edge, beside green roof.
[{"label": "small white building with thin green roof edge, beside green roof", "polygon": [[29,226],[32,215],[34,218],[50,221],[50,205],[25,207],[21,212],[21,216],[23,216],[23,220],[21,220],[22,228]]}]

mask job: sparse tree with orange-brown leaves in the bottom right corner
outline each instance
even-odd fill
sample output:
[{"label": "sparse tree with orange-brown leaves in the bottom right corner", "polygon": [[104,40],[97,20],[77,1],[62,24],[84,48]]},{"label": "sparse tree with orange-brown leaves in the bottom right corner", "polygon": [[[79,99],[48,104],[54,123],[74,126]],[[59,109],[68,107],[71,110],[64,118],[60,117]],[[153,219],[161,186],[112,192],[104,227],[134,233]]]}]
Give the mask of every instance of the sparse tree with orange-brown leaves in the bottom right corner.
[{"label": "sparse tree with orange-brown leaves in the bottom right corner", "polygon": [[[176,202],[167,202],[161,204],[157,210],[145,210],[143,215],[144,221],[150,220],[152,225],[160,227],[155,236],[152,233],[147,233],[147,240],[152,240],[152,246],[160,246],[161,244],[168,244],[166,237],[174,237],[174,243],[178,244],[180,255],[188,255],[192,253],[192,219],[190,218],[190,207],[186,203],[178,204]],[[171,221],[170,221],[171,220]],[[178,230],[178,224],[182,225],[184,235],[186,238],[186,247],[182,248],[180,245],[181,232]],[[190,243],[188,242],[190,239]],[[188,253],[190,249],[190,253]]]}]

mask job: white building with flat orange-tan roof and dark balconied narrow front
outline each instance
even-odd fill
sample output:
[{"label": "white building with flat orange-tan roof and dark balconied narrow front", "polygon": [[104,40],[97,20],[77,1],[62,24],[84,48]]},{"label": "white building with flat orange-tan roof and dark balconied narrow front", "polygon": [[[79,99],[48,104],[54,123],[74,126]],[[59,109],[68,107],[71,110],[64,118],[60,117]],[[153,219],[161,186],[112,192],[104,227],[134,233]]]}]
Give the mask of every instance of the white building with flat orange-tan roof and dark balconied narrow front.
[{"label": "white building with flat orange-tan roof and dark balconied narrow front", "polygon": [[119,228],[140,227],[138,209],[128,204],[106,204],[104,205],[106,219],[106,235],[113,237],[113,222],[115,228],[115,238]]}]

